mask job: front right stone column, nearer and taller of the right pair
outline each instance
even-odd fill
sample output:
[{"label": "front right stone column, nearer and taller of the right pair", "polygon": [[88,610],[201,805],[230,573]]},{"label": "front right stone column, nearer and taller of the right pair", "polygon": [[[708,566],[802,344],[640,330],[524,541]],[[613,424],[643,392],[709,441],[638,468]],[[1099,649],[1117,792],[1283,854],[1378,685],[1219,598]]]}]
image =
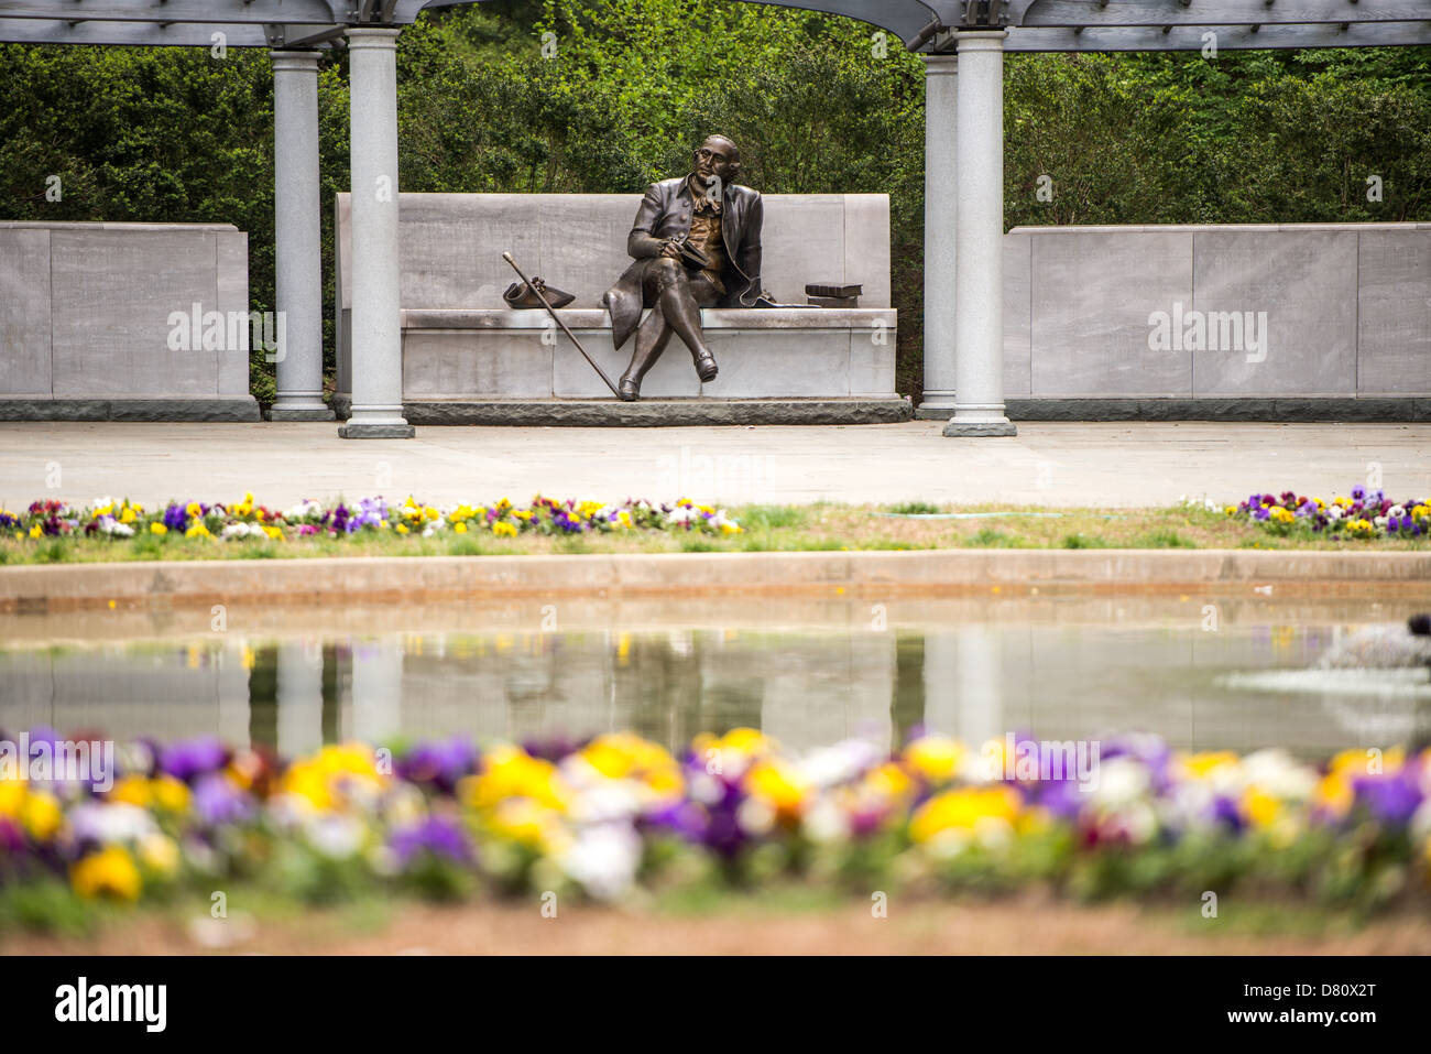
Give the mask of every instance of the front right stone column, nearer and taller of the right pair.
[{"label": "front right stone column, nearer and taller of the right pair", "polygon": [[1003,39],[959,33],[954,415],[944,435],[1015,435],[1003,410]]}]

